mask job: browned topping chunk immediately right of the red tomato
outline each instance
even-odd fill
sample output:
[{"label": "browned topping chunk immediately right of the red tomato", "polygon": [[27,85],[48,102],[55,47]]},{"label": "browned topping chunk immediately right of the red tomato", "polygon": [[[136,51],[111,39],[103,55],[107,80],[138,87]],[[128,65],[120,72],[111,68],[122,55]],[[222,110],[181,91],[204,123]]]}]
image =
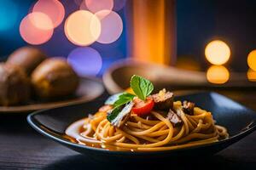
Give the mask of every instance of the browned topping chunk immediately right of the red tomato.
[{"label": "browned topping chunk immediately right of the red tomato", "polygon": [[166,92],[166,89],[160,90],[158,94],[153,94],[152,99],[154,99],[154,109],[160,111],[169,111],[173,106],[173,93]]}]

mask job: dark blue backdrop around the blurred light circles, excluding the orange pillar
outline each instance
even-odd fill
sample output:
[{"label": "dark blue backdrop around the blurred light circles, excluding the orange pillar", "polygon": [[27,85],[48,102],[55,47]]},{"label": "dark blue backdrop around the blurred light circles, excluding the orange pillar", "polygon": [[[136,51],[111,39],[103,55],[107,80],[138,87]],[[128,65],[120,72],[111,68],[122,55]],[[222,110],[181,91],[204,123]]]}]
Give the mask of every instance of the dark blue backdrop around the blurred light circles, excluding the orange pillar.
[{"label": "dark blue backdrop around the blurred light circles, excluding the orange pillar", "polygon": [[[15,48],[26,45],[19,33],[20,20],[26,16],[34,2],[33,0],[0,1],[0,22],[3,24],[15,20],[14,26],[9,29],[1,30],[0,27],[0,56],[2,58],[7,57]],[[65,19],[68,14],[79,8],[73,0],[61,0],[61,3],[66,8]],[[247,54],[256,48],[256,1],[177,0],[176,3],[178,58],[189,56],[205,69],[209,64],[204,57],[204,48],[207,42],[220,39],[226,42],[231,49],[231,58],[226,64],[230,70],[247,71]],[[1,8],[6,7],[11,7],[9,14],[1,13],[3,11]],[[92,44],[92,47],[102,54],[101,74],[114,60],[127,57],[125,10],[129,12],[129,8],[119,11],[124,20],[124,31],[119,40],[108,45],[97,42]],[[63,23],[56,28],[54,36],[49,42],[38,46],[49,56],[67,57],[67,54],[76,48],[65,37]],[[3,25],[0,24],[0,26]]]}]

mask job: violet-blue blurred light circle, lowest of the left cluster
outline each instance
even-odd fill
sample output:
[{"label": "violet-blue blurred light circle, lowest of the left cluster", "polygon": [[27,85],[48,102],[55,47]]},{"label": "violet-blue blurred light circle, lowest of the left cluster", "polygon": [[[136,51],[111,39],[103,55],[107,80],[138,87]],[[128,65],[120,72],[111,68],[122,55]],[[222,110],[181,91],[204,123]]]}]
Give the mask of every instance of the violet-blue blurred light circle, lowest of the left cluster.
[{"label": "violet-blue blurred light circle, lowest of the left cluster", "polygon": [[75,48],[67,57],[67,62],[79,76],[96,76],[102,68],[102,57],[90,47]]}]

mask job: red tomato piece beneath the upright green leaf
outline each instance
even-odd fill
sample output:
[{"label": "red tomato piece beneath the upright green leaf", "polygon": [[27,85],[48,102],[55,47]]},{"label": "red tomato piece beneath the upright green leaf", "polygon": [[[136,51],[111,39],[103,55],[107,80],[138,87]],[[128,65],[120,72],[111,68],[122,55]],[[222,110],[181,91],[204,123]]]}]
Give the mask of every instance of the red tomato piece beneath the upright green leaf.
[{"label": "red tomato piece beneath the upright green leaf", "polygon": [[148,115],[154,107],[154,100],[151,98],[147,98],[146,101],[136,98],[133,99],[133,101],[135,102],[135,105],[131,111],[137,114],[137,116]]}]

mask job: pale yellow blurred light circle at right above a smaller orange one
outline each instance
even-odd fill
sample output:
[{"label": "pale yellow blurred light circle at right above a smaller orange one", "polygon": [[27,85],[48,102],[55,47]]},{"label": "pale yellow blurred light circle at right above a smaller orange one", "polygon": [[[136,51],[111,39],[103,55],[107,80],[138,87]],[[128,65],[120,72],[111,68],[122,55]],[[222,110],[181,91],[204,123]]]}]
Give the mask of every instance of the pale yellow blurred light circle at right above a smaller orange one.
[{"label": "pale yellow blurred light circle at right above a smaller orange one", "polygon": [[230,48],[225,42],[214,40],[207,44],[205,54],[213,65],[223,65],[230,59]]}]

